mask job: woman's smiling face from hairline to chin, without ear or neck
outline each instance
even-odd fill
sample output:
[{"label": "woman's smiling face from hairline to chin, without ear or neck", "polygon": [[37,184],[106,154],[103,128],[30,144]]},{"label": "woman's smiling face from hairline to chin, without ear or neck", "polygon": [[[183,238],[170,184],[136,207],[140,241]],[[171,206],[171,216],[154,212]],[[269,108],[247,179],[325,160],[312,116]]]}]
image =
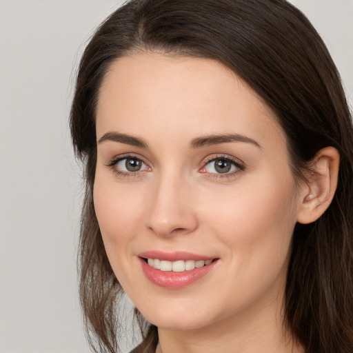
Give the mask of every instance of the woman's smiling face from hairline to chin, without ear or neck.
[{"label": "woman's smiling face from hairline to chin, without ear or neck", "polygon": [[148,321],[192,329],[278,309],[298,199],[273,112],[230,70],[160,54],[112,64],[94,207],[112,269]]}]

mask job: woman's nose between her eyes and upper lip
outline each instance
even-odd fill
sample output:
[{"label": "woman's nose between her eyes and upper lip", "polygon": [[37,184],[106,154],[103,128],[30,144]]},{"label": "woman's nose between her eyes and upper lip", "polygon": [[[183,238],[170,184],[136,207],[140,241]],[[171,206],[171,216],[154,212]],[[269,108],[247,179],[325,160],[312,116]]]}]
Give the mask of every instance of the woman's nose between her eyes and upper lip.
[{"label": "woman's nose between her eyes and upper lip", "polygon": [[165,176],[156,181],[151,194],[146,226],[154,234],[171,236],[196,230],[198,219],[192,185],[181,177]]}]

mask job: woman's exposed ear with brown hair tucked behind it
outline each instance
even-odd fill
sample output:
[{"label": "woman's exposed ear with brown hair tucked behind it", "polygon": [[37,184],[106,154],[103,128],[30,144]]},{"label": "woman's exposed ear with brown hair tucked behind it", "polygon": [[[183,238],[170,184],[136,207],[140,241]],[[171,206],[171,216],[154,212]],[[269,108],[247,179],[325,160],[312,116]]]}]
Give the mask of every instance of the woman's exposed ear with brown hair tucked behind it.
[{"label": "woman's exposed ear with brown hair tucked behind it", "polygon": [[312,223],[330,205],[337,188],[339,176],[339,152],[327,147],[319,150],[312,161],[312,172],[302,185],[299,195],[299,223]]}]

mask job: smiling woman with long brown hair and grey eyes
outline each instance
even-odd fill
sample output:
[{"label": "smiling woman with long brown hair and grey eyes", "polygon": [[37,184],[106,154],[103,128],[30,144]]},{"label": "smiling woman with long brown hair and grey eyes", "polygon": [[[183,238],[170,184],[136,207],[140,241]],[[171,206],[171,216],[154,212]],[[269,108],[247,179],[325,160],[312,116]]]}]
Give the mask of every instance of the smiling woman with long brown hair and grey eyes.
[{"label": "smiling woman with long brown hair and grey eyes", "polygon": [[[81,59],[81,304],[96,352],[352,352],[352,121],[281,0],[129,1]],[[94,340],[96,345],[94,345]]]}]

